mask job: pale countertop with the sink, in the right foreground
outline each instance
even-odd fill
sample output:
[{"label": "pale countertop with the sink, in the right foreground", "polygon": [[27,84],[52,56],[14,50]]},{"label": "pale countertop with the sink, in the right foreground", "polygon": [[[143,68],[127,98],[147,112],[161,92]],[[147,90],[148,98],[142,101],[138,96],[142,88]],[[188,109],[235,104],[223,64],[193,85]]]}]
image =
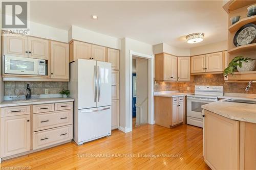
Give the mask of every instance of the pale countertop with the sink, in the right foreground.
[{"label": "pale countertop with the sink, in the right foreground", "polygon": [[[228,99],[234,98],[229,96]],[[202,108],[233,120],[256,124],[256,104],[225,102],[228,99],[203,105]]]}]

